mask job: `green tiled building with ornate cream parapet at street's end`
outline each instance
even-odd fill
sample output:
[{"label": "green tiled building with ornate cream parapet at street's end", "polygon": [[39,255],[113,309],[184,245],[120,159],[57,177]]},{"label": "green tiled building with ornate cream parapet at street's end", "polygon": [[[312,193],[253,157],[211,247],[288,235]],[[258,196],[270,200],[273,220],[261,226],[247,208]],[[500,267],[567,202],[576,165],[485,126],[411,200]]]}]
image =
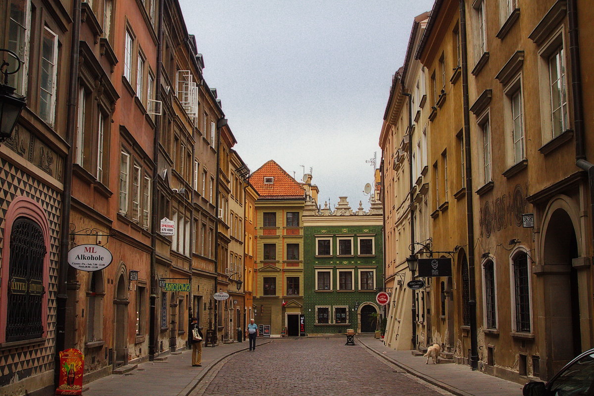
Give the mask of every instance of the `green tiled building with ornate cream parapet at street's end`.
[{"label": "green tiled building with ornate cream parapet at street's end", "polygon": [[383,290],[383,210],[372,202],[365,212],[353,211],[340,197],[334,211],[324,204],[305,204],[304,314],[305,332],[342,334],[375,331],[372,313],[382,313],[375,302]]}]

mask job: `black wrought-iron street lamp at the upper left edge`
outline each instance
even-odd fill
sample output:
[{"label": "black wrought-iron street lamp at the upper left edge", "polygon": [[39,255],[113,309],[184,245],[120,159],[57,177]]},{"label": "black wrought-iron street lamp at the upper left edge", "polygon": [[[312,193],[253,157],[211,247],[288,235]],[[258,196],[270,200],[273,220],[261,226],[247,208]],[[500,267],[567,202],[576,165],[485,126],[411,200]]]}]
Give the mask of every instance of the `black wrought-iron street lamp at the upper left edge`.
[{"label": "black wrought-iron street lamp at the upper left edge", "polygon": [[6,66],[10,66],[10,63],[5,60],[2,60],[2,65],[0,65],[0,71],[4,74],[4,84],[0,84],[0,142],[3,142],[11,137],[18,116],[21,115],[27,102],[24,96],[15,94],[15,88],[8,85],[8,76],[21,69],[21,59],[11,50],[0,48],[0,52],[10,53],[18,63],[17,68],[13,71],[5,69]]}]

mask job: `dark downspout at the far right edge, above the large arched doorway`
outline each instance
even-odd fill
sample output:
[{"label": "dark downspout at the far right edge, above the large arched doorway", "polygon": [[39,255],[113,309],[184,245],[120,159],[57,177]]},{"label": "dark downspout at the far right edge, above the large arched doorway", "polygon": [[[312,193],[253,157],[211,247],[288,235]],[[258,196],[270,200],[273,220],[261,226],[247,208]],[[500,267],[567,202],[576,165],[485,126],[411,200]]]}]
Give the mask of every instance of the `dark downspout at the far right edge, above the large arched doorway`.
[{"label": "dark downspout at the far right edge, above the large arched doorway", "polygon": [[594,245],[594,164],[586,160],[586,138],[584,135],[584,104],[582,101],[582,60],[580,59],[580,37],[577,26],[577,2],[567,1],[569,24],[569,58],[571,65],[571,97],[573,99],[573,123],[576,135],[576,165],[588,172],[590,189],[590,222]]}]

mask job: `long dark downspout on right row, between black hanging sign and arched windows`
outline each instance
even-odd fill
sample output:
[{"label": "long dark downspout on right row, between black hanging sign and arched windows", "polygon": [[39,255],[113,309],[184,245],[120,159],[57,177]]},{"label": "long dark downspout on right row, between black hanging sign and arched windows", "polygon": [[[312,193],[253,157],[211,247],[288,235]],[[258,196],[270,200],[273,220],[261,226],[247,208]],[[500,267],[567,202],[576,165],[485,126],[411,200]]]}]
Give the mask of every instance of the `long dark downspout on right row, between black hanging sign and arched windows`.
[{"label": "long dark downspout on right row, between black hanging sign and arched windows", "polygon": [[470,309],[470,368],[478,369],[478,340],[476,332],[476,286],[475,286],[475,228],[472,202],[472,156],[470,155],[470,105],[468,99],[468,53],[466,49],[466,9],[460,0],[460,47],[462,47],[462,97],[464,114],[464,150],[466,159],[466,227]]}]

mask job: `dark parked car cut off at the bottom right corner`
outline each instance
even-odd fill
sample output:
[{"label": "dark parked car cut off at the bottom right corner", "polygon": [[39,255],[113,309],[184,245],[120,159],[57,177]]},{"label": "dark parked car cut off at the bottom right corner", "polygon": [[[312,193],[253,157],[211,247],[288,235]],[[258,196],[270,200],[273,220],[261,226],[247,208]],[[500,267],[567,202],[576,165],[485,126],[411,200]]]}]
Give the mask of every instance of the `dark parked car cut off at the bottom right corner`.
[{"label": "dark parked car cut off at the bottom right corner", "polygon": [[594,349],[587,350],[567,363],[547,382],[529,382],[524,396],[592,396],[594,395]]}]

